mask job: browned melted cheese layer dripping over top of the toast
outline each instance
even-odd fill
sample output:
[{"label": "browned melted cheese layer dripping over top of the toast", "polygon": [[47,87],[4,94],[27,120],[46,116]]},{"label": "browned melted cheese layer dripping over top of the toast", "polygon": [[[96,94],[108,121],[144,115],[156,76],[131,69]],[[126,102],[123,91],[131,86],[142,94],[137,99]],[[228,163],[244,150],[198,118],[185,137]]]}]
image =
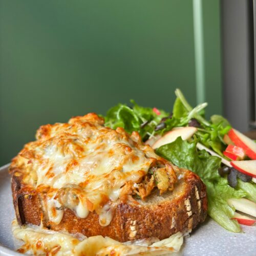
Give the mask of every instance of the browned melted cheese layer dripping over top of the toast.
[{"label": "browned melted cheese layer dripping over top of the toast", "polygon": [[80,218],[95,210],[100,225],[109,225],[123,185],[141,182],[155,165],[170,166],[138,133],[130,136],[103,124],[90,113],[41,126],[37,140],[13,159],[10,171],[22,173],[25,184],[47,194],[50,222],[60,223],[66,207]]}]

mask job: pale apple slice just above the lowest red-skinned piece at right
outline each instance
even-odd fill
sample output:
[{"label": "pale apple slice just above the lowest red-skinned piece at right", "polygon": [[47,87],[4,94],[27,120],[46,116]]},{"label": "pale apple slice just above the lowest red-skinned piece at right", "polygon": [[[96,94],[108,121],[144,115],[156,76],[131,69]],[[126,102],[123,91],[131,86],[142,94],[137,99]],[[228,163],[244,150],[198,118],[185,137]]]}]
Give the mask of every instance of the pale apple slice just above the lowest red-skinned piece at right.
[{"label": "pale apple slice just above the lowest red-skinned piece at right", "polygon": [[251,215],[253,217],[256,217],[256,203],[245,199],[245,198],[240,198],[240,199],[235,199],[231,198],[227,200],[227,203],[230,206],[233,206],[236,210],[242,211],[245,214]]}]

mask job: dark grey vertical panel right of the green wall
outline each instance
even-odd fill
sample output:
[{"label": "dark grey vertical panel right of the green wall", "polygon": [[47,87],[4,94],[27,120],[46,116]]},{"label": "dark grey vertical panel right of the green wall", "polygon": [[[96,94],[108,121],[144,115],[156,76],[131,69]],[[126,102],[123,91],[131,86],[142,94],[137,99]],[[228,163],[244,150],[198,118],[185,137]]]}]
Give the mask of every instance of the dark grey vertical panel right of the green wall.
[{"label": "dark grey vertical panel right of the green wall", "polygon": [[222,1],[224,114],[243,132],[249,129],[253,86],[249,3]]}]

